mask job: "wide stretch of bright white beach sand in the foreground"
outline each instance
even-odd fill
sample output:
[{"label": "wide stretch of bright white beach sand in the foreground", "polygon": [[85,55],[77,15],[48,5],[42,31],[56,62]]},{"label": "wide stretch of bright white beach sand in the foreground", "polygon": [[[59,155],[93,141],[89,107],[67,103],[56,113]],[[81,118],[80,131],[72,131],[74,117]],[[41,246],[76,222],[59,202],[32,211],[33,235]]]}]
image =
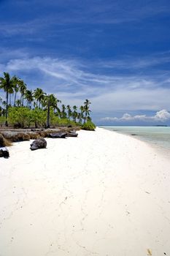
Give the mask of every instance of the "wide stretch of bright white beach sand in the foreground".
[{"label": "wide stretch of bright white beach sand in the foreground", "polygon": [[0,159],[0,256],[170,255],[167,157],[99,128],[29,144]]}]

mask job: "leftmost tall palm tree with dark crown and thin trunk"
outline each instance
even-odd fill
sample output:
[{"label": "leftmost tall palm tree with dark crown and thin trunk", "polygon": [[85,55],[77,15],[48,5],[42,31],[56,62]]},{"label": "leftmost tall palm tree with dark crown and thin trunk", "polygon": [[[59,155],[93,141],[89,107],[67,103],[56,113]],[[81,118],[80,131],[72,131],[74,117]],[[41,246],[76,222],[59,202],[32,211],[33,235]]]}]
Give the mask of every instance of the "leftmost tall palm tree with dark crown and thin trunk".
[{"label": "leftmost tall palm tree with dark crown and thin trunk", "polygon": [[4,89],[6,92],[6,113],[5,113],[5,125],[8,126],[7,122],[7,117],[8,117],[8,99],[9,99],[9,94],[12,91],[13,88],[13,81],[10,78],[9,73],[4,72],[4,78],[0,78],[0,88]]}]

